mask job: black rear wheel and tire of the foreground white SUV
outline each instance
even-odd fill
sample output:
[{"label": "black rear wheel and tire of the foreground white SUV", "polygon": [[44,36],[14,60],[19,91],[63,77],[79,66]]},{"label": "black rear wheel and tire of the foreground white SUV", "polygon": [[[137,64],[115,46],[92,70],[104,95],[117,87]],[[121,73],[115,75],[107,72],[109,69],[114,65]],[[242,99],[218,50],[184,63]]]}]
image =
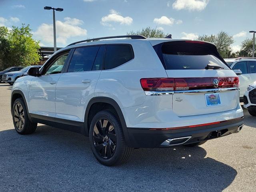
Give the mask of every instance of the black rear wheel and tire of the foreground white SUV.
[{"label": "black rear wheel and tire of the foreground white SUV", "polygon": [[131,154],[119,118],[110,110],[100,111],[92,118],[89,138],[92,153],[103,165],[122,164]]}]

